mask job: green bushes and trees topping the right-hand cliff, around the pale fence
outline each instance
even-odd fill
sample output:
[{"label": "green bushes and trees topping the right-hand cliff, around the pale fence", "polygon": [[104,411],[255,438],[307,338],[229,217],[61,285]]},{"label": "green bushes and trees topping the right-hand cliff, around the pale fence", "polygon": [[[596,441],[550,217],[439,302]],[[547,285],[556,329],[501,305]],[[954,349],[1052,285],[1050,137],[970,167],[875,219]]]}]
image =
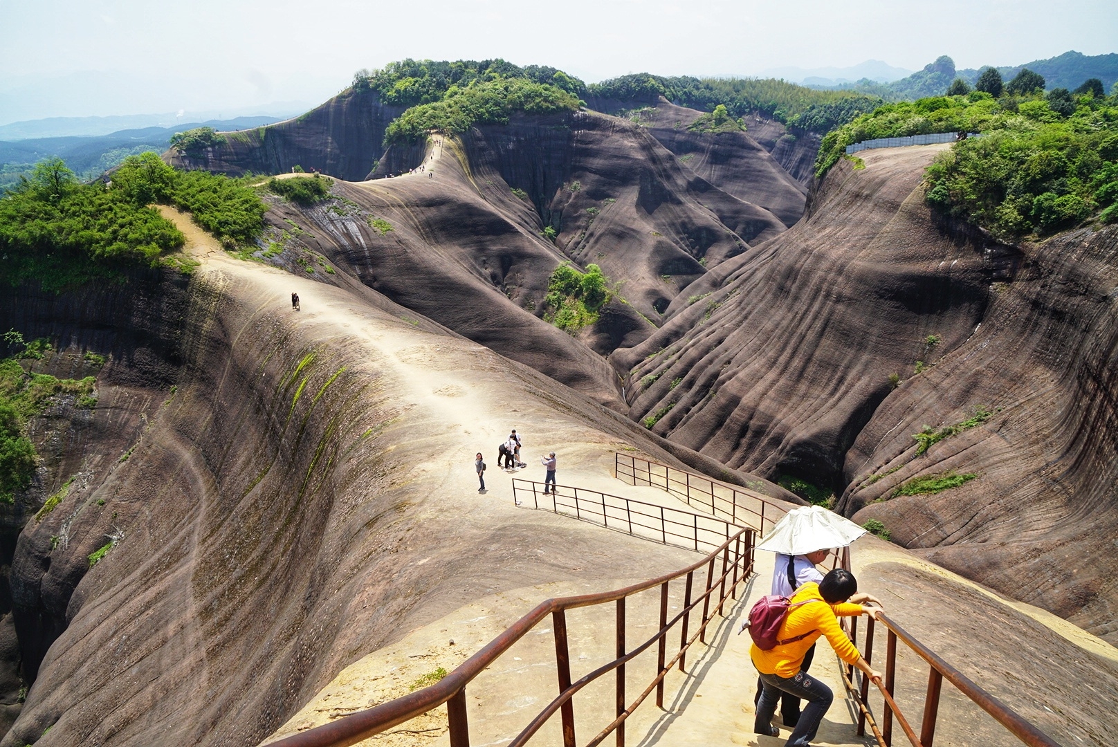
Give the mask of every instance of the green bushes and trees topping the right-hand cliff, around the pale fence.
[{"label": "green bushes and trees topping the right-hand cliff, around the pale fence", "polygon": [[[1046,235],[1098,216],[1118,219],[1118,96],[1043,92],[1022,70],[1001,97],[974,91],[887,104],[823,139],[816,174],[846,145],[936,132],[980,133],[928,169],[928,202],[997,235]],[[1039,81],[1036,78],[1040,78]],[[1016,84],[1016,85],[1015,85]],[[1001,85],[998,85],[1001,87]],[[1093,88],[1093,89],[1092,89]]]}]

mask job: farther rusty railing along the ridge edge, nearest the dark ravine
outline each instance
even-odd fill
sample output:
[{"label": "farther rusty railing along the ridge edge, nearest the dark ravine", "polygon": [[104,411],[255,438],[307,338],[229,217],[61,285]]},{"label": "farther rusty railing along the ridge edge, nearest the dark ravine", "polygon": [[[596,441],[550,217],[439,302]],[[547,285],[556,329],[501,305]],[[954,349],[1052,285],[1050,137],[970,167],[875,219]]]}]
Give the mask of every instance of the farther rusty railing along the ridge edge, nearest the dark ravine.
[{"label": "farther rusty railing along the ridge edge, nearest the dark ravine", "polygon": [[755,527],[758,537],[764,537],[788,512],[787,508],[762,493],[632,454],[614,453],[614,474],[631,485],[660,488],[688,505],[726,517],[731,523]]}]

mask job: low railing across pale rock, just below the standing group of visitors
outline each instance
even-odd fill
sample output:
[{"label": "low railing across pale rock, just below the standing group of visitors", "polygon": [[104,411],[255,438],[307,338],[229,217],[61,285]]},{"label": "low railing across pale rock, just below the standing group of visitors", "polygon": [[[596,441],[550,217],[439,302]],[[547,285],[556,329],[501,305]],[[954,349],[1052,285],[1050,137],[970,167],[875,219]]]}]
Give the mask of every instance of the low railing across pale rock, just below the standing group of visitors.
[{"label": "low railing across pale rock, just below the standing group of visitors", "polygon": [[745,529],[718,517],[634,501],[597,490],[556,485],[553,490],[543,492],[547,486],[541,482],[513,479],[512,495],[517,505],[553,511],[697,552],[710,552]]}]

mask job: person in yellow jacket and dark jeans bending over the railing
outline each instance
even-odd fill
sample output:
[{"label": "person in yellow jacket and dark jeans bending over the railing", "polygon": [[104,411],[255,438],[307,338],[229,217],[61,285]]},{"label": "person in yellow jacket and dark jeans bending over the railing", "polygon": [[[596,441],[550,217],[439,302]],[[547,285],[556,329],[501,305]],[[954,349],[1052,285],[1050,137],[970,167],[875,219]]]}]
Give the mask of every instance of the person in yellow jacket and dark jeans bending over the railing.
[{"label": "person in yellow jacket and dark jeans bending over the railing", "polygon": [[835,568],[818,584],[804,584],[790,599],[793,605],[798,606],[788,609],[780,625],[777,639],[781,643],[768,651],[761,651],[756,643],[750,646],[749,655],[760,673],[762,684],[754,731],[769,737],[780,736],[780,730],[773,726],[773,715],[780,694],[787,692],[807,701],[807,707],[800,713],[785,747],[811,747],[809,743],[815,738],[819,721],[834,700],[831,688],[800,671],[804,654],[821,635],[826,636],[827,643],[844,662],[862,670],[870,679],[881,678],[862,659],[858,647],[839,626],[839,617],[864,614],[878,618],[881,612],[879,608],[846,602],[856,593],[858,580],[853,574],[842,568]]}]

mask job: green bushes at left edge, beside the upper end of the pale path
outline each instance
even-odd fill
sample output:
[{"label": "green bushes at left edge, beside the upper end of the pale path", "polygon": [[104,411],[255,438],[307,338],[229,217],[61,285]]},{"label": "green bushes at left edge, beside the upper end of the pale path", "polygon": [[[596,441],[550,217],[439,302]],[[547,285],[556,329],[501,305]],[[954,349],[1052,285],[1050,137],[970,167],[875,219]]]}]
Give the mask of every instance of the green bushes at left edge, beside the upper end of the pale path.
[{"label": "green bushes at left edge, beside the upper end of the pale path", "polygon": [[151,152],[125,159],[107,183],[82,183],[48,159],[0,197],[0,281],[57,292],[158,264],[183,236],[152,202],[189,210],[227,247],[254,240],[267,209],[243,182],[176,171]]}]

